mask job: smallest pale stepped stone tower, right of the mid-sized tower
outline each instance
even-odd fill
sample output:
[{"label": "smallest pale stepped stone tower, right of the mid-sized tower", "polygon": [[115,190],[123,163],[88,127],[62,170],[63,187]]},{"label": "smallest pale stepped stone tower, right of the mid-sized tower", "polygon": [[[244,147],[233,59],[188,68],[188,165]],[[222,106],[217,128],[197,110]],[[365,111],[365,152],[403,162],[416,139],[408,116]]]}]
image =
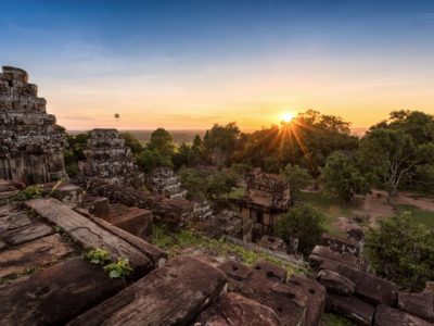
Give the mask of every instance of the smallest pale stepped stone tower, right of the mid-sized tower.
[{"label": "smallest pale stepped stone tower, right of the mid-sized tower", "polygon": [[181,181],[169,167],[156,168],[146,179],[153,192],[169,199],[186,198],[187,190],[181,189]]}]

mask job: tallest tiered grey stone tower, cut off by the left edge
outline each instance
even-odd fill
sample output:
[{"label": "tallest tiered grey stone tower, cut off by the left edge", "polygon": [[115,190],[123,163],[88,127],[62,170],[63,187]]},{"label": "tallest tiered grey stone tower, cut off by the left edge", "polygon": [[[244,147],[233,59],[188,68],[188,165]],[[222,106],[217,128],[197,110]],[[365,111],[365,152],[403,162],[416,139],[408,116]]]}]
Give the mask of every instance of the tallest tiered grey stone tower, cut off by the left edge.
[{"label": "tallest tiered grey stone tower, cut off by the left edge", "polygon": [[67,177],[66,137],[47,114],[47,101],[28,84],[25,71],[3,66],[0,74],[0,178],[41,184]]}]

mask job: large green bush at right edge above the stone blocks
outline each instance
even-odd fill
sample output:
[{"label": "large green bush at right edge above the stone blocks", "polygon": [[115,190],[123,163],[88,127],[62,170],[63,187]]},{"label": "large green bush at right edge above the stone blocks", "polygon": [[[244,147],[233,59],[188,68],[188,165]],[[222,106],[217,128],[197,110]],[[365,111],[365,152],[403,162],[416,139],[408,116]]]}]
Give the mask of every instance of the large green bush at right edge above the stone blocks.
[{"label": "large green bush at right edge above the stone blocks", "polygon": [[413,291],[434,279],[434,231],[405,212],[380,220],[367,234],[366,253],[376,274]]}]

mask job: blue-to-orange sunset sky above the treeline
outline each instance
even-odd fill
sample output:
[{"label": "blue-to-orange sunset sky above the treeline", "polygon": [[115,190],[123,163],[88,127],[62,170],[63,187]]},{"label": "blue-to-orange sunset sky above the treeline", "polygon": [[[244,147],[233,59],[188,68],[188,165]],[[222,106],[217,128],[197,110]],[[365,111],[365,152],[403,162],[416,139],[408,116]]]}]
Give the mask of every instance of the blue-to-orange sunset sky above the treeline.
[{"label": "blue-to-orange sunset sky above the treeline", "polygon": [[434,114],[434,1],[0,0],[0,65],[68,129],[251,130],[307,109],[362,127]]}]

